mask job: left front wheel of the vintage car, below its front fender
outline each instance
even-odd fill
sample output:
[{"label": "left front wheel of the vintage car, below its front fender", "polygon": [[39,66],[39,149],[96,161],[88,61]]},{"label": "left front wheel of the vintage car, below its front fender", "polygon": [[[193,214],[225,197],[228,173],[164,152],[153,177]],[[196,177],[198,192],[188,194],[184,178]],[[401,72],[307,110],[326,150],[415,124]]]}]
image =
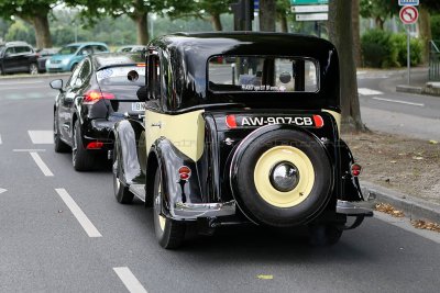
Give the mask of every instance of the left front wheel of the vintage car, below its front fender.
[{"label": "left front wheel of the vintage car, below its front fender", "polygon": [[113,164],[112,164],[113,192],[119,203],[129,204],[133,202],[134,194],[130,192],[129,187],[120,179],[120,174],[123,173],[123,168],[122,168],[123,158],[122,158],[121,146],[117,142],[118,140],[114,142]]}]

